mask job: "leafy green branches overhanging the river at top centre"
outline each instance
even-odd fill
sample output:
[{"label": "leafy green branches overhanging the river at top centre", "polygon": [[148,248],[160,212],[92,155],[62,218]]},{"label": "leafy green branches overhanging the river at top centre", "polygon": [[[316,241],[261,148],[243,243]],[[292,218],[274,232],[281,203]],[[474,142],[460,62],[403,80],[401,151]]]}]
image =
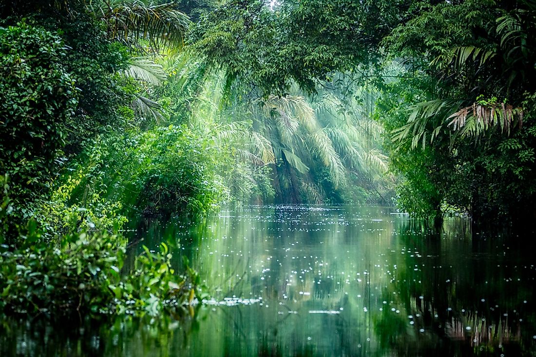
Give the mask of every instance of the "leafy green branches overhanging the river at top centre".
[{"label": "leafy green branches overhanging the river at top centre", "polygon": [[266,96],[288,93],[297,83],[311,93],[317,80],[375,58],[379,39],[397,23],[400,6],[349,0],[273,6],[258,0],[226,1],[192,25],[189,42],[225,71],[228,87],[239,80]]}]

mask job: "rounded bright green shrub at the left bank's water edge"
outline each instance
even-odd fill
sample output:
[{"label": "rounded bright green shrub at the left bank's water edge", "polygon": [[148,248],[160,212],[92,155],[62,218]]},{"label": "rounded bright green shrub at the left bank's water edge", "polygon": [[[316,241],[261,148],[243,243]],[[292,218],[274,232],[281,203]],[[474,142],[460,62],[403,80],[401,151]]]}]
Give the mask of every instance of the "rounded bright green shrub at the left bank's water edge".
[{"label": "rounded bright green shrub at the left bank's water edge", "polygon": [[[224,188],[215,173],[217,156],[210,142],[185,126],[170,125],[132,138],[123,170],[132,207],[146,215],[198,215],[220,202]],[[132,158],[132,159],[130,159]],[[130,167],[128,166],[130,165]],[[125,200],[127,197],[125,197]]]}]

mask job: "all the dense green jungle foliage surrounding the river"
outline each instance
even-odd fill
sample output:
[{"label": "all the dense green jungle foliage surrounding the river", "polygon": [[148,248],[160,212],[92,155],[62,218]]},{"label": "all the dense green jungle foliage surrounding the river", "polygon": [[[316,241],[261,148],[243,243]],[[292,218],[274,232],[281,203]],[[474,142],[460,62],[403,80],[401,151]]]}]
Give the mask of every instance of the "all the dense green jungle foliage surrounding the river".
[{"label": "all the dense green jungle foliage surrounding the river", "polygon": [[165,246],[123,264],[136,217],[534,217],[535,20],[530,0],[0,2],[1,306],[200,297]]}]

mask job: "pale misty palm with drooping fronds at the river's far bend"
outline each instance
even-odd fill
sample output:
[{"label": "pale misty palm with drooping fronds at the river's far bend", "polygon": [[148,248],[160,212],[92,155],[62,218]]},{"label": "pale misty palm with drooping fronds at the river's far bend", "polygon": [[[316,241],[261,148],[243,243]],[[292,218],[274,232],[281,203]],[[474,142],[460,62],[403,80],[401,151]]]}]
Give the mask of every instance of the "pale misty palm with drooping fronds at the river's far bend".
[{"label": "pale misty palm with drooping fronds at the river's far bend", "polygon": [[272,95],[251,105],[253,127],[273,148],[274,186],[280,198],[294,203],[333,201],[327,196],[347,190],[349,177],[387,169],[378,146],[381,127],[355,110],[338,113],[343,103],[332,92],[316,102],[299,94]]}]

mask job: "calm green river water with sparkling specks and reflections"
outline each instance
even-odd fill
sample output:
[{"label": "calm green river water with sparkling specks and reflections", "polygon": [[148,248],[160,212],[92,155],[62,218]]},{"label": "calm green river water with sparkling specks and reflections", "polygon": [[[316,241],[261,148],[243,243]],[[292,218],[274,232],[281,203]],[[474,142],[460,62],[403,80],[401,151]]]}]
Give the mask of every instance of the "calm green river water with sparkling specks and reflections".
[{"label": "calm green river water with sparkling specks and reflections", "polygon": [[534,356],[534,236],[432,234],[391,208],[250,207],[178,241],[211,299],[183,314],[0,322],[1,356]]}]

